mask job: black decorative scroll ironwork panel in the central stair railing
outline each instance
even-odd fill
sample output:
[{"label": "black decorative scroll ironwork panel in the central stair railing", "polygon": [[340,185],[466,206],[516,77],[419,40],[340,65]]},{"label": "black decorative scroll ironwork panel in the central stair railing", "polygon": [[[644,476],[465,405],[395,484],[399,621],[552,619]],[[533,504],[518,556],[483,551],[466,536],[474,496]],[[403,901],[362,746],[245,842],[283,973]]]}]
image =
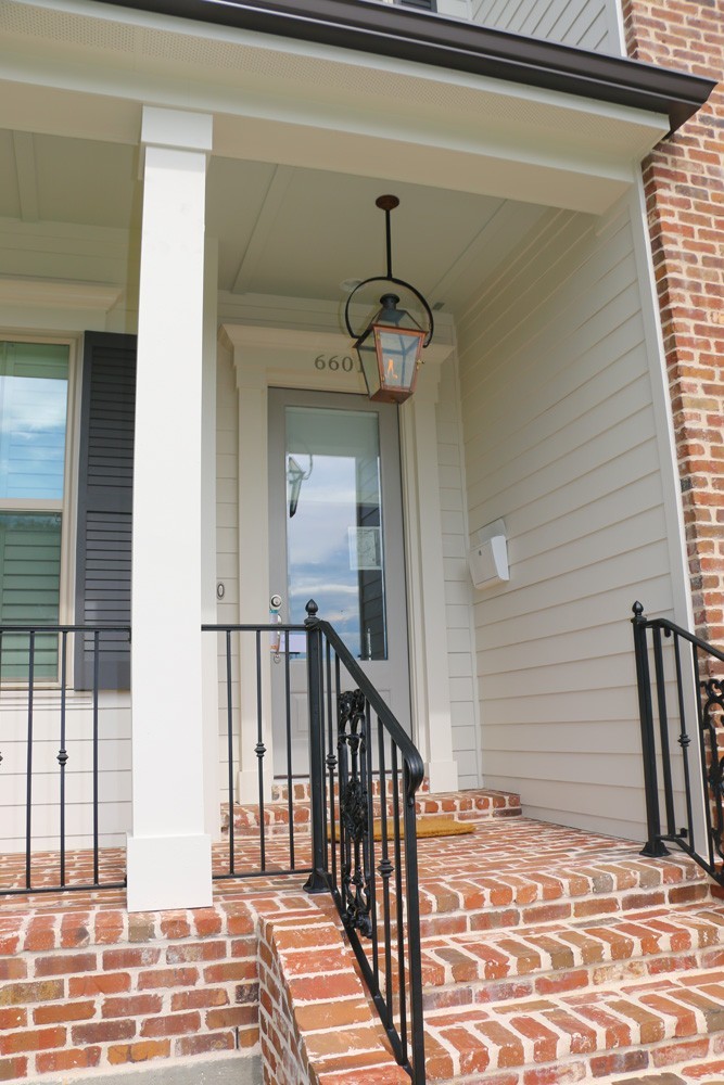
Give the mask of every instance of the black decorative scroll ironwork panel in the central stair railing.
[{"label": "black decorative scroll ironwork panel in the central stair railing", "polygon": [[342,922],[347,930],[372,936],[365,695],[359,689],[338,697],[340,766],[340,843],[342,847]]}]

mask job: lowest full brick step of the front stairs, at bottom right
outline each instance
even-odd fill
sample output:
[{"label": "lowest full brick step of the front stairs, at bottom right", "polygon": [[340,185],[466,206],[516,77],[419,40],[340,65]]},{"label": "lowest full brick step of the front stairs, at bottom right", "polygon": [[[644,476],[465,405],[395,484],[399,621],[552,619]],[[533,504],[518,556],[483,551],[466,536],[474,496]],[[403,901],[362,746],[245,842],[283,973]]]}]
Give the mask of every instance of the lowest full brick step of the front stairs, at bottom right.
[{"label": "lowest full brick step of the front stairs, at bottom right", "polygon": [[[678,1064],[724,1030],[724,970],[698,970],[583,993],[455,1006],[425,1016],[429,1082],[590,1081]],[[711,1041],[715,1041],[711,1045]],[[704,1043],[706,1042],[706,1043]],[[706,1050],[704,1050],[706,1048]],[[535,1068],[531,1077],[525,1068]],[[503,1072],[506,1073],[505,1078]],[[485,1077],[481,1078],[481,1074]]]}]

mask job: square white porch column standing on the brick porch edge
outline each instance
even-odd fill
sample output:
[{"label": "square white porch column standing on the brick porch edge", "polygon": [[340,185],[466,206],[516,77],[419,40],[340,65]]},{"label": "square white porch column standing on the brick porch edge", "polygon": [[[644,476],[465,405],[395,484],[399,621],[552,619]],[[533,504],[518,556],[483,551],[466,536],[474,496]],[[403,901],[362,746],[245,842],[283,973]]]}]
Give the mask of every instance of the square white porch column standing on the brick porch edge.
[{"label": "square white porch column standing on the brick porch edge", "polygon": [[128,909],[211,904],[202,720],[204,206],[212,118],[144,107]]}]

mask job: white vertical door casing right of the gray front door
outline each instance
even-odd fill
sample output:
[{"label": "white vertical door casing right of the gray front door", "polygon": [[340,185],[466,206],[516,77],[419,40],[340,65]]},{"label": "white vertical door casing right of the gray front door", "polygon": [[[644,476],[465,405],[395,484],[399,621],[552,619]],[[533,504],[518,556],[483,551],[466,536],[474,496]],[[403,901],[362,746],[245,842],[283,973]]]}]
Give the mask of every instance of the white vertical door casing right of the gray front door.
[{"label": "white vertical door casing right of the gray front door", "polygon": [[439,381],[439,366],[422,366],[415,395],[399,412],[408,524],[408,607],[416,741],[424,760],[431,792],[455,791],[458,786],[457,763],[453,756],[437,467],[435,404]]}]

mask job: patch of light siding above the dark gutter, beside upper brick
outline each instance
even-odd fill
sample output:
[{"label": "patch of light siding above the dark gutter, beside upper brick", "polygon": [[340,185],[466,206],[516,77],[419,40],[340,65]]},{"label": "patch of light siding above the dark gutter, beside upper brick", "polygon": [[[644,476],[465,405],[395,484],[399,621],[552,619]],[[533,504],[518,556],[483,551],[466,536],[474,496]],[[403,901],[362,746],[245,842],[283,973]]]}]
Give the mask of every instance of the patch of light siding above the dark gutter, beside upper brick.
[{"label": "patch of light siding above the dark gutter, beside upper brick", "polygon": [[472,0],[472,20],[512,34],[619,52],[614,0]]}]

